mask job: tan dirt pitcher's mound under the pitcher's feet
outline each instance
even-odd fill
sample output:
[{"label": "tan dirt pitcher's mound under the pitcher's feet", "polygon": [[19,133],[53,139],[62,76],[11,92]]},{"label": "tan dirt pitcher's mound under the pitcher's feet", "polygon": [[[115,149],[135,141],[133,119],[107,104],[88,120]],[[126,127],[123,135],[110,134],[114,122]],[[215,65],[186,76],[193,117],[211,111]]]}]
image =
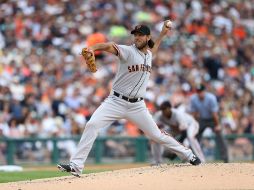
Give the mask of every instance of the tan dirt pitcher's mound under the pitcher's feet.
[{"label": "tan dirt pitcher's mound under the pitcher's feet", "polygon": [[[126,167],[130,168],[126,169]],[[73,176],[50,178],[49,176],[46,179],[2,183],[0,190],[254,189],[254,165],[252,163],[210,163],[201,166],[189,164],[126,165],[112,166],[111,169],[97,166],[90,171],[99,173],[83,174],[81,178]]]}]

